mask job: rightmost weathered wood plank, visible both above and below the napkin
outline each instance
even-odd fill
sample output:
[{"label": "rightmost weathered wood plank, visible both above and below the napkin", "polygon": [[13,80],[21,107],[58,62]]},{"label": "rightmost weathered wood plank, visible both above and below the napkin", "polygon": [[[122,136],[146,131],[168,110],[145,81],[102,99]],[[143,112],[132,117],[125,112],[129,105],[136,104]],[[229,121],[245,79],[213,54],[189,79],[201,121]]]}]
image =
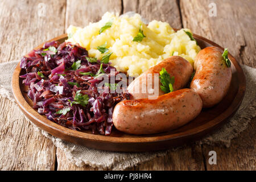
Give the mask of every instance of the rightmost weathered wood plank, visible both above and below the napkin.
[{"label": "rightmost weathered wood plank, visible both above and below the napkin", "polygon": [[[256,67],[255,62],[255,11],[254,1],[219,1],[216,0],[217,16],[208,14],[212,1],[181,0],[181,14],[184,27],[191,28],[195,34],[228,47],[240,63]],[[225,8],[223,8],[225,7]],[[230,148],[203,146],[203,153],[208,159],[208,152],[217,152],[217,165],[209,165],[208,170],[255,170],[255,118],[249,128],[240,137],[234,139]]]}]

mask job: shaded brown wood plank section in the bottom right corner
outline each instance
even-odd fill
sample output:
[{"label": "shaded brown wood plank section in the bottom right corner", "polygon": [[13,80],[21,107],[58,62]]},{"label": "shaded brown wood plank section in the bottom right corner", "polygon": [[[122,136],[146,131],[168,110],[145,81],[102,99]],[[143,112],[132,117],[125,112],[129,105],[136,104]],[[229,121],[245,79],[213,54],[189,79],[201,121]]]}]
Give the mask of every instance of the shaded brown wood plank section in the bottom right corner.
[{"label": "shaded brown wood plank section in the bottom right corner", "polygon": [[[232,140],[229,148],[220,146],[203,146],[204,156],[209,151],[216,151],[217,164],[206,161],[207,170],[256,170],[256,118],[241,135]],[[209,158],[209,157],[208,157]],[[208,159],[207,158],[207,159]]]}]

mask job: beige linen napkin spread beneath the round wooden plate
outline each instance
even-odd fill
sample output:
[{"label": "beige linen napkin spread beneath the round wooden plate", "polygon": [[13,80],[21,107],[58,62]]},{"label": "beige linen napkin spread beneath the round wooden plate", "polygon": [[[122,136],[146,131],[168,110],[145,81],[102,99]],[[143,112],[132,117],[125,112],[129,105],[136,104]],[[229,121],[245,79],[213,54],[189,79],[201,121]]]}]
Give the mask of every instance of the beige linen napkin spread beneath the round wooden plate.
[{"label": "beige linen napkin spread beneath the round wooden plate", "polygon": [[[13,70],[18,63],[19,61],[11,61],[0,64],[0,94],[2,97],[9,98],[9,100],[14,103],[15,100],[13,93],[11,92],[10,82]],[[224,144],[226,147],[229,147],[230,140],[237,137],[243,130],[245,130],[248,123],[251,121],[251,118],[255,117],[256,69],[247,67],[246,65],[242,65],[242,69],[246,76],[246,93],[240,108],[230,121],[221,127],[221,129],[217,130],[212,135],[201,139],[197,144]],[[6,70],[10,70],[10,72],[6,72]],[[173,148],[171,150],[158,152],[100,151],[65,142],[64,140],[46,133],[46,131],[41,131],[44,136],[52,140],[56,147],[61,148],[61,150],[65,152],[68,160],[71,160],[71,162],[75,163],[77,166],[88,164],[89,166],[98,167],[100,169],[123,170],[156,158],[157,156],[164,156],[168,152],[176,150],[176,148]]]}]

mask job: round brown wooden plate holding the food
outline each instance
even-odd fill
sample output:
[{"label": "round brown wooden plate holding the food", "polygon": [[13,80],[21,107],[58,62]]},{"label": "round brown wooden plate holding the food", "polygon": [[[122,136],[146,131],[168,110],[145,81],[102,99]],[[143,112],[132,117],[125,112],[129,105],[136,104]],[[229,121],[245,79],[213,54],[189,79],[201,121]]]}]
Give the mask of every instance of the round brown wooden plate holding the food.
[{"label": "round brown wooden plate holding the food", "polygon": [[[202,49],[208,46],[220,47],[216,43],[201,36],[195,34],[193,36]],[[67,34],[52,40],[62,43],[65,39],[67,39]],[[43,44],[35,49],[42,46]],[[224,50],[224,48],[220,48]],[[126,152],[165,150],[210,134],[211,131],[220,127],[221,124],[225,123],[229,117],[232,117],[236,113],[245,94],[246,82],[243,71],[236,59],[230,54],[229,59],[232,61],[232,82],[226,97],[216,106],[210,109],[203,109],[200,115],[193,119],[193,121],[187,123],[187,125],[170,132],[154,135],[129,135],[113,129],[112,134],[106,137],[93,135],[90,131],[81,132],[67,129],[49,121],[45,116],[40,115],[36,110],[32,109],[32,101],[24,92],[24,90],[27,90],[27,87],[22,84],[23,79],[19,78],[20,75],[25,73],[24,70],[19,68],[19,64],[13,74],[12,86],[15,100],[23,113],[36,126],[55,137],[99,150]]]}]

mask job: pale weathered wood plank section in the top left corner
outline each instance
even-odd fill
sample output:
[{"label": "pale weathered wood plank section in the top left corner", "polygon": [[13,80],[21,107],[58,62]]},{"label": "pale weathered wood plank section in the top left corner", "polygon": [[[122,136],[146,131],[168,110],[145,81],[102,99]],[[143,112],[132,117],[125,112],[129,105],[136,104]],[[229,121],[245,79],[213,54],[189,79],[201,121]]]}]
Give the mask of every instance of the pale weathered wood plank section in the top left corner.
[{"label": "pale weathered wood plank section in the top left corner", "polygon": [[0,7],[0,62],[64,33],[65,0],[0,1]]}]

